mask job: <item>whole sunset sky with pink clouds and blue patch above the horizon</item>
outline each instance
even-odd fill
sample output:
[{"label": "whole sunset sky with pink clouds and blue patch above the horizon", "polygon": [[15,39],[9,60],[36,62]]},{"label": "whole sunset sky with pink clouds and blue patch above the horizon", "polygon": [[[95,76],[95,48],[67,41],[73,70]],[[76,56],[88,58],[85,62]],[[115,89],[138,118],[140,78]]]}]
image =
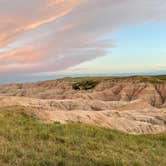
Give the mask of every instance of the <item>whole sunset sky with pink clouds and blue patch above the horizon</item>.
[{"label": "whole sunset sky with pink clouds and blue patch above the horizon", "polygon": [[0,83],[166,73],[165,0],[0,0]]}]

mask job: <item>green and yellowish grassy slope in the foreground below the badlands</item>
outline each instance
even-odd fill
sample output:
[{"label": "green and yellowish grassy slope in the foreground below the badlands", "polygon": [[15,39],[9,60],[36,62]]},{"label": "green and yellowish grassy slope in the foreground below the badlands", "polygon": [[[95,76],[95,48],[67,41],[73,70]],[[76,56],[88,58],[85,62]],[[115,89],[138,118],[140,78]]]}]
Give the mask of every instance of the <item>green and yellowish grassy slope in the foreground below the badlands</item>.
[{"label": "green and yellowish grassy slope in the foreground below the badlands", "polygon": [[0,166],[165,166],[166,135],[133,136],[81,124],[42,124],[0,110]]}]

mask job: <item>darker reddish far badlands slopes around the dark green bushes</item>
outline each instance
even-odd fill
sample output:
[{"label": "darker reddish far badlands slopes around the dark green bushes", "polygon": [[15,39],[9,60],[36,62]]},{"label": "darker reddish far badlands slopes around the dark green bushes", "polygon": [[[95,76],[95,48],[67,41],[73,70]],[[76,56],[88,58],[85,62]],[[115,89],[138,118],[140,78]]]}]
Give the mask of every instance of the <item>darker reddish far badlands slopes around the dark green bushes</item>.
[{"label": "darker reddish far badlands slopes around the dark green bushes", "polygon": [[90,99],[134,101],[142,99],[154,107],[166,107],[166,82],[140,81],[137,77],[100,80],[93,89],[74,90],[77,80],[55,80],[31,84],[0,86],[0,96],[23,96],[38,99]]}]

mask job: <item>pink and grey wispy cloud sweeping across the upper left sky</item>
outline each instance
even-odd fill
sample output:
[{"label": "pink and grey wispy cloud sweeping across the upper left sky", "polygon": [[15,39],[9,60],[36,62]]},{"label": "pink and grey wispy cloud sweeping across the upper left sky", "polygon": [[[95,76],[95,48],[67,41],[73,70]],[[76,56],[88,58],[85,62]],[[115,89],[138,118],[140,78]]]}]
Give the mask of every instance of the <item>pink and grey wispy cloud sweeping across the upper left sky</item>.
[{"label": "pink and grey wispy cloud sweeping across the upper left sky", "polygon": [[63,70],[104,56],[102,36],[166,21],[164,0],[0,0],[0,73]]}]

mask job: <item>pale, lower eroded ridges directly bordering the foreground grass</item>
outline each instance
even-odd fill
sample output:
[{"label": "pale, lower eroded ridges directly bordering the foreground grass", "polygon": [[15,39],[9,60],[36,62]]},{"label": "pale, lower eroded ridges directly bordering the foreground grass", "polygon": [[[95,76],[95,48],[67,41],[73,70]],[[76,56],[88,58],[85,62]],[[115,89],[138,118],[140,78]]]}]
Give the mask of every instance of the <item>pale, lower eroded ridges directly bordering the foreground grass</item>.
[{"label": "pale, lower eroded ridges directly bordering the foreground grass", "polygon": [[166,132],[166,109],[143,100],[101,101],[0,97],[0,107],[24,107],[47,123],[86,123],[132,134]]}]

